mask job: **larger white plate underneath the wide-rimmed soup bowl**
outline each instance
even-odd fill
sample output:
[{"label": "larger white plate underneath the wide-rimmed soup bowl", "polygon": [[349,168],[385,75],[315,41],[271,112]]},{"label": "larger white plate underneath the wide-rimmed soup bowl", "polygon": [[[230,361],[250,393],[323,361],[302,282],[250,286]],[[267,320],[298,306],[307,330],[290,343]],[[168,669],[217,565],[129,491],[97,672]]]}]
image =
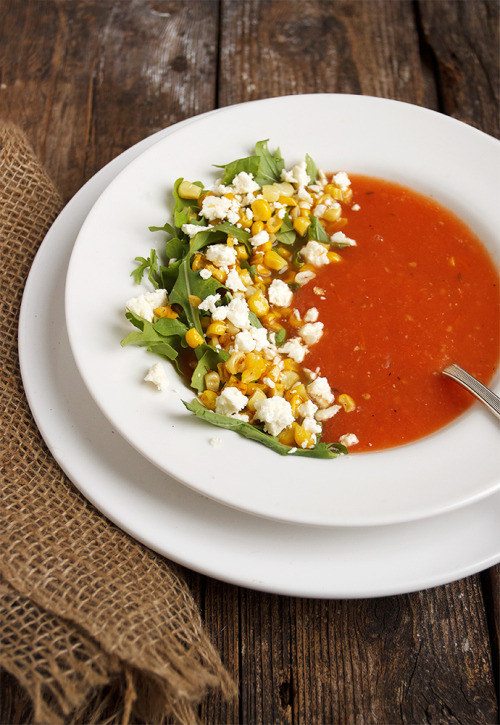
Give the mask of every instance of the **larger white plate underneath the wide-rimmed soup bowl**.
[{"label": "larger white plate underneath the wide-rimmed soup bowl", "polygon": [[321,598],[400,594],[500,561],[500,493],[396,526],[283,524],[217,504],[165,476],[100,413],[73,361],[61,279],[98,195],[127,161],[172,130],[122,154],[78,192],[50,229],[25,288],[19,327],[23,382],[42,435],[67,475],[100,511],[152,549],[262,591]]}]

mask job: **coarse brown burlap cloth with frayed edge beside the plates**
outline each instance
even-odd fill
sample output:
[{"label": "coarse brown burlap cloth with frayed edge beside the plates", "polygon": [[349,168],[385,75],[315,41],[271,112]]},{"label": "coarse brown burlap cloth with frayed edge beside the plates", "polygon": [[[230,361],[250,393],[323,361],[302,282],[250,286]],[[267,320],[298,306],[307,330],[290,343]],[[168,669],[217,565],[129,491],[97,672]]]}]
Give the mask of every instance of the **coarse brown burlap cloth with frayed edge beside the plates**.
[{"label": "coarse brown burlap cloth with frayed edge beside the plates", "polygon": [[0,122],[0,664],[26,689],[37,722],[195,722],[210,689],[230,696],[234,684],[180,568],[78,493],[24,396],[19,306],[61,208],[24,135]]}]

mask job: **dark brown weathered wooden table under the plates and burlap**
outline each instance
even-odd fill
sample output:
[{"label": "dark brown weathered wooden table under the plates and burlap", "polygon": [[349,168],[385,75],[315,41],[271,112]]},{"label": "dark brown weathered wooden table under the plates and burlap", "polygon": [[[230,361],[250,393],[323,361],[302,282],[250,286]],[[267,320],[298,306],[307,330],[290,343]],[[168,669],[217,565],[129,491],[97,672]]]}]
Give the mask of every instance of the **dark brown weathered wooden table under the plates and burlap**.
[{"label": "dark brown weathered wooden table under the plates and burlap", "polygon": [[[0,117],[69,200],[120,152],[213,108],[383,96],[498,137],[499,3],[2,0]],[[186,572],[239,681],[205,723],[498,722],[499,567],[415,594],[318,601]],[[4,673],[0,722],[29,720]]]}]

